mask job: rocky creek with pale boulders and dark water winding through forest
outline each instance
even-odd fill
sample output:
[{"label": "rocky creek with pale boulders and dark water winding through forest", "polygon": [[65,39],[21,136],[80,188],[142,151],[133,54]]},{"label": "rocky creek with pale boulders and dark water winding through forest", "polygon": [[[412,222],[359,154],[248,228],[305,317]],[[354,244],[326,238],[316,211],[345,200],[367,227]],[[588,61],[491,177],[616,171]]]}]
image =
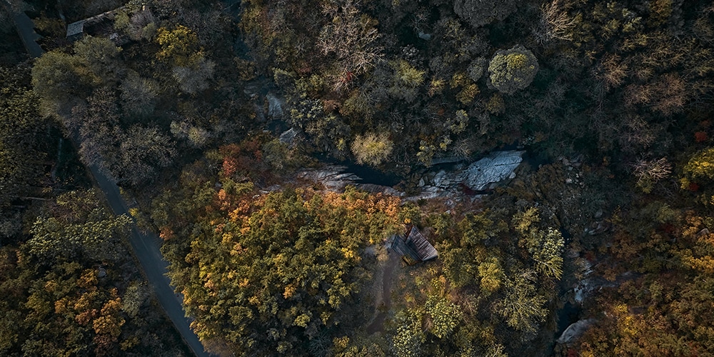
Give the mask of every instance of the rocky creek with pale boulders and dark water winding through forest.
[{"label": "rocky creek with pale boulders and dark water winding through forest", "polygon": [[[292,145],[300,136],[297,129],[291,128],[284,121],[286,115],[285,99],[276,94],[270,81],[263,79],[260,84],[253,84],[246,90],[257,96],[256,111],[258,117],[268,123],[268,129],[279,135],[280,140]],[[264,99],[264,100],[260,100]],[[258,106],[258,104],[263,104]],[[361,166],[351,161],[336,161],[327,156],[315,156],[322,166],[317,169],[305,169],[298,173],[299,180],[318,183],[329,191],[343,191],[346,186],[355,186],[371,193],[386,193],[399,196],[403,201],[418,201],[430,198],[446,198],[452,201],[463,199],[477,199],[483,194],[493,191],[498,185],[508,183],[516,178],[518,166],[527,157],[523,150],[492,151],[472,161],[461,158],[440,158],[433,161],[433,166],[423,171],[421,178],[416,183],[417,192],[406,193],[395,188],[400,178],[384,174],[368,166]],[[537,167],[545,164],[533,158],[528,159],[528,164]],[[558,159],[568,170],[580,167],[580,158]],[[572,161],[572,162],[571,162]],[[575,178],[566,178],[566,184],[577,183]],[[572,176],[572,175],[571,175]],[[602,214],[600,213],[600,216]],[[595,217],[600,218],[600,217]],[[583,234],[597,235],[606,231],[604,221],[596,221],[585,229]],[[570,241],[570,232],[563,229],[563,236]],[[560,346],[569,346],[595,323],[594,318],[583,318],[582,304],[586,298],[595,295],[601,288],[617,286],[618,282],[605,281],[598,276],[593,276],[593,263],[580,257],[577,251],[565,252],[565,258],[573,261],[575,269],[581,278],[573,286],[563,286],[561,296],[565,299],[563,307],[558,309],[558,326],[553,336]],[[622,277],[625,278],[626,277]],[[383,301],[388,305],[388,300]],[[381,327],[384,313],[378,313],[373,321],[371,330],[376,331]]]}]

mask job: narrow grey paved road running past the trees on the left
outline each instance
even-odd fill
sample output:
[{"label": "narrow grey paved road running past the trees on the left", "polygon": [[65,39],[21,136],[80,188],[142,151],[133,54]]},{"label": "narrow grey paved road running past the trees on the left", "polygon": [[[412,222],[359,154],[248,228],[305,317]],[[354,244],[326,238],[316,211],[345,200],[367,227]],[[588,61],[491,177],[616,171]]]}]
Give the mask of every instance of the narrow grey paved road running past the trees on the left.
[{"label": "narrow grey paved road running past the trees on the left", "polygon": [[[44,50],[36,42],[41,36],[35,33],[32,20],[23,12],[14,11],[8,0],[4,0],[3,4],[12,14],[17,32],[21,36],[27,52],[33,57],[41,56]],[[76,141],[74,144],[77,144]],[[104,194],[104,198],[106,202],[109,203],[111,210],[114,211],[116,215],[126,214],[130,216],[126,202],[119,193],[119,187],[106,177],[106,175],[102,174],[96,165],[91,165],[88,169],[94,178],[95,185],[100,189],[101,193]],[[183,341],[186,342],[186,345],[191,348],[191,351],[193,351],[196,356],[211,356],[204,351],[203,345],[201,341],[198,341],[196,333],[191,331],[189,319],[186,318],[183,312],[183,296],[174,293],[171,281],[169,281],[169,278],[166,276],[169,263],[164,261],[163,256],[161,256],[161,251],[159,250],[161,241],[159,237],[153,233],[139,231],[136,223],[132,223],[130,233],[129,241],[131,241],[134,256],[139,260],[141,269],[144,271],[144,276],[146,276],[149,284],[154,288],[154,296],[156,296],[156,300],[159,301],[161,308],[164,308],[166,316],[169,316],[178,333],[181,333]]]}]

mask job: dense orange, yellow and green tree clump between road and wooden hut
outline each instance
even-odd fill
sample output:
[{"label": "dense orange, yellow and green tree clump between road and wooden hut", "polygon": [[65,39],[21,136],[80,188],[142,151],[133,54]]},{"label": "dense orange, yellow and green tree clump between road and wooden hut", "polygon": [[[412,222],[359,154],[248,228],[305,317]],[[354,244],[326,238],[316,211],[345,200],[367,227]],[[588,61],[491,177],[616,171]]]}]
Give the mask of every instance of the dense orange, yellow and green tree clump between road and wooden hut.
[{"label": "dense orange, yellow and green tree clump between road and wooden hut", "polygon": [[253,198],[250,185],[222,183],[211,198],[221,213],[164,246],[198,336],[235,353],[303,354],[323,333],[349,333],[340,326],[368,278],[362,249],[393,229],[398,201],[355,190]]}]

